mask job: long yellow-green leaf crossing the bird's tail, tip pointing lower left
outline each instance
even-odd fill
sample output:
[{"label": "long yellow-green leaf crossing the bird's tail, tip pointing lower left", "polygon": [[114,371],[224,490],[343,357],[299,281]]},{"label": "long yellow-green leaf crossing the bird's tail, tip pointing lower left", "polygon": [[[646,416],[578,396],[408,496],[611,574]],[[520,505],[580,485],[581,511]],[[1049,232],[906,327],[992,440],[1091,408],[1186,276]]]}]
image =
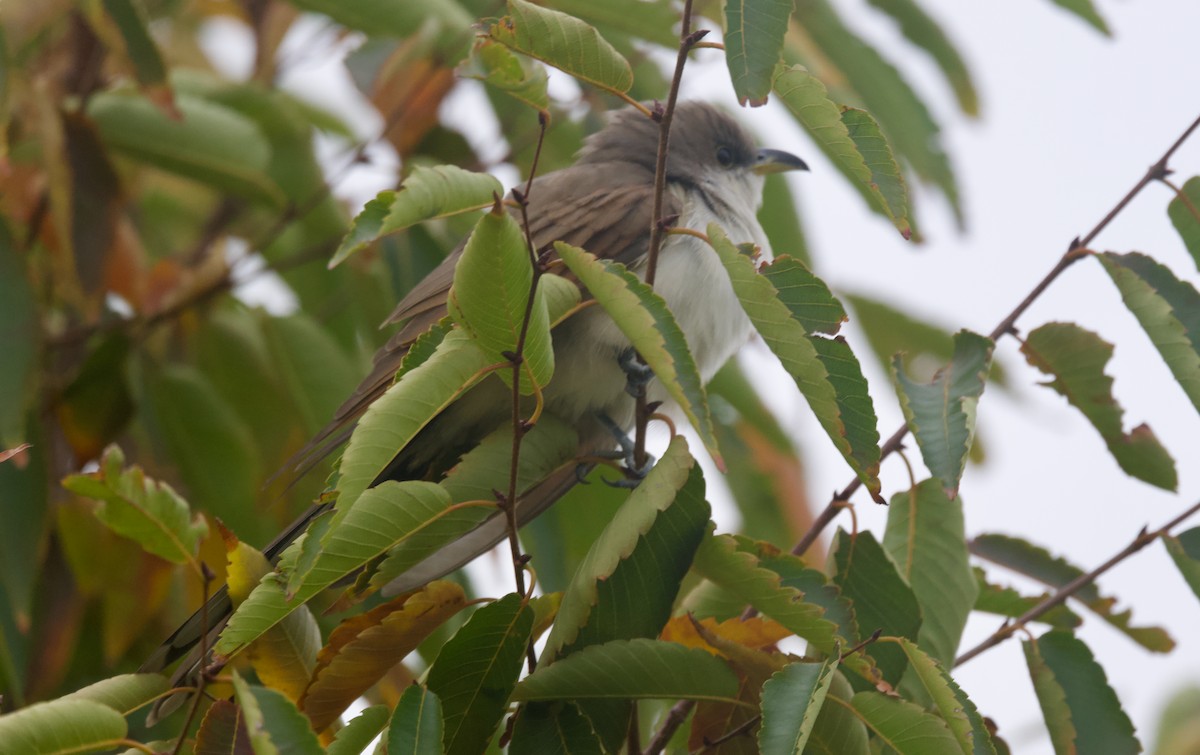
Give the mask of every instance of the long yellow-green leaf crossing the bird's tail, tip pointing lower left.
[{"label": "long yellow-green leaf crossing the bird's tail, tip pointing lower left", "polygon": [[230,617],[215,651],[222,655],[240,652],[322,589],[406,539],[419,538],[451,503],[444,489],[420,480],[388,480],[366,491],[349,514],[330,522],[322,550],[295,594],[288,594],[286,577],[278,573],[264,576]]}]

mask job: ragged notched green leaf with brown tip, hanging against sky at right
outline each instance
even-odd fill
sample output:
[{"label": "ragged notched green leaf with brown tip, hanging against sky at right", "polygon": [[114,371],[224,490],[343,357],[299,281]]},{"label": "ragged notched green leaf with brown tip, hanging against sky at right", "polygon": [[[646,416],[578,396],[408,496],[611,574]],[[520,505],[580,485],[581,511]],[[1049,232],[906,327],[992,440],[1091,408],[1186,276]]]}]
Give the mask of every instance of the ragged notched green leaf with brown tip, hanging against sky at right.
[{"label": "ragged notched green leaf with brown tip, hanging against sky at right", "polygon": [[1121,468],[1139,480],[1176,490],[1175,461],[1148,425],[1122,430],[1124,411],[1112,397],[1112,378],[1104,366],[1112,344],[1072,323],[1048,323],[1031,332],[1021,346],[1031,365],[1054,379],[1048,385],[1063,396],[1099,431]]}]

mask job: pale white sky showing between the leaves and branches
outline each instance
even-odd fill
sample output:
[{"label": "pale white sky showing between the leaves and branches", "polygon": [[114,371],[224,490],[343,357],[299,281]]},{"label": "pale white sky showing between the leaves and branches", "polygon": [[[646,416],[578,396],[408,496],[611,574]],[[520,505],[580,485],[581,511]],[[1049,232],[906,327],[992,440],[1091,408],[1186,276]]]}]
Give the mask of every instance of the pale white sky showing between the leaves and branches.
[{"label": "pale white sky showing between the leaves and branches", "polygon": [[[848,23],[900,62],[942,124],[961,185],[967,230],[956,230],[940,197],[914,187],[926,242],[919,247],[904,242],[866,210],[781,109],[772,104],[749,112],[746,122],[766,143],[794,151],[812,164],[811,173],[792,179],[793,187],[803,196],[804,226],[818,271],[835,292],[869,293],[948,329],[988,332],[1050,270],[1068,242],[1103,217],[1200,114],[1195,59],[1200,2],[1098,4],[1114,30],[1111,40],[1050,0],[923,0],[974,74],[983,103],[978,121],[958,113],[932,64],[864,0],[839,4]],[[319,53],[331,44],[336,44],[332,36],[320,34],[316,25],[295,34],[288,47],[302,52],[286,83],[331,109],[362,113],[336,64],[318,65]],[[248,65],[245,31],[232,22],[215,25],[208,47],[234,76]],[[718,53],[698,55],[701,61],[709,58],[712,65],[721,65]],[[684,79],[684,96],[731,104],[727,88],[713,90],[714,82],[724,85],[726,80],[692,70]],[[482,132],[470,136],[494,144],[494,126],[480,126],[473,103],[478,100],[469,91],[455,97],[444,118],[456,126],[474,124]],[[378,119],[355,118],[364,134],[378,128]],[[385,150],[377,156],[379,163],[356,170],[344,182],[342,196],[361,204],[394,180],[395,158]],[[1200,174],[1200,134],[1176,154],[1172,166],[1180,182]],[[516,176],[500,178],[511,182]],[[1144,251],[1196,283],[1195,264],[1166,217],[1169,198],[1165,187],[1150,186],[1093,247]],[[272,301],[269,284],[240,293]],[[1128,544],[1144,525],[1156,527],[1200,498],[1194,439],[1200,435],[1200,418],[1094,262],[1074,265],[1018,328],[1027,332],[1050,320],[1076,322],[1116,344],[1108,372],[1116,378],[1126,429],[1142,421],[1153,427],[1178,465],[1180,493],[1127,478],[1086,420],[1057,394],[1034,385],[1040,373],[1026,367],[1016,342],[1006,338],[997,358],[1010,371],[1016,400],[992,389],[985,393],[979,431],[989,460],[967,469],[961,495],[968,534],[1022,535],[1090,569]],[[864,355],[880,431],[887,437],[901,421],[893,390],[887,376],[865,356],[853,323],[850,337]],[[756,376],[764,376],[764,393],[784,423],[796,430],[809,463],[811,495],[823,505],[828,491],[851,479],[848,469],[773,358],[756,346],[745,358]],[[911,459],[919,465],[916,450]],[[715,473],[709,469],[708,477],[714,485]],[[907,486],[899,460],[884,463],[883,480],[888,496]],[[886,515],[883,508],[858,496],[860,526],[882,532]],[[718,519],[722,528],[736,526],[727,505],[718,509]],[[848,517],[840,523],[848,527]],[[1196,525],[1200,517],[1186,527]],[[992,575],[1022,585],[1006,580],[998,569]],[[1174,653],[1154,655],[1080,610],[1085,618],[1080,635],[1105,667],[1142,744],[1150,748],[1168,696],[1181,685],[1200,684],[1200,603],[1158,544],[1105,575],[1100,588],[1133,609],[1135,624],[1160,624],[1178,642]],[[972,618],[962,647],[973,646],[998,624],[995,617]],[[1014,751],[1051,751],[1016,641],[971,661],[955,678],[980,711],[996,719]]]}]

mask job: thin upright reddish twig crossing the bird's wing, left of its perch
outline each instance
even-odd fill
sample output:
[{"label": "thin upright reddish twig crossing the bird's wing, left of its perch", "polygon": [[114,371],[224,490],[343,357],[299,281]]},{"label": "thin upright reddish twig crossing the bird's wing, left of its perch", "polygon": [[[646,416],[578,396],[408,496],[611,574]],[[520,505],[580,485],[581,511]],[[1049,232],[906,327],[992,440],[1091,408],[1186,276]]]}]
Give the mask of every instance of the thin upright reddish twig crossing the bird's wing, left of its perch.
[{"label": "thin upright reddish twig crossing the bird's wing, left of its perch", "polygon": [[[526,246],[529,252],[529,265],[533,270],[529,277],[529,295],[526,299],[524,317],[521,320],[521,332],[517,335],[517,344],[512,352],[512,456],[509,467],[509,492],[500,497],[500,509],[504,511],[505,522],[509,531],[509,550],[512,552],[512,577],[517,585],[517,593],[526,594],[524,569],[528,557],[521,553],[521,540],[517,538],[517,475],[521,471],[521,441],[524,438],[533,424],[521,418],[521,367],[524,364],[526,338],[529,335],[529,323],[533,322],[533,306],[538,293],[538,282],[541,280],[542,268],[538,260],[538,250],[533,245],[533,232],[529,230],[529,193],[533,191],[533,179],[538,174],[538,160],[541,157],[541,145],[546,139],[546,126],[550,115],[545,110],[538,112],[538,144],[533,152],[533,164],[529,166],[529,179],[526,181],[523,192],[514,192],[514,197],[521,205],[521,228],[524,232]],[[497,205],[499,202],[497,202]],[[532,376],[530,376],[532,382]],[[540,388],[534,385],[534,390],[540,393]],[[541,400],[538,400],[539,406]],[[526,646],[526,659],[529,664],[529,673],[533,673],[538,665],[538,655],[533,649],[533,640]]]}]

